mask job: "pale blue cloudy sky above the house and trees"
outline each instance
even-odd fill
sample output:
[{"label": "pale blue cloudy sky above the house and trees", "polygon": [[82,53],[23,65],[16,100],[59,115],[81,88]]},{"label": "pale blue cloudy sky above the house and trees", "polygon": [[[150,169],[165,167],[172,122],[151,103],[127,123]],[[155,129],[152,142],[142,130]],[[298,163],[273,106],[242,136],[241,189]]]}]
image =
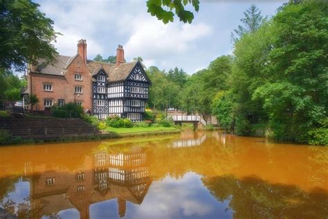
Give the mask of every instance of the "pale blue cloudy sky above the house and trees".
[{"label": "pale blue cloudy sky above the house and trees", "polygon": [[274,15],[284,0],[201,0],[192,24],[163,24],[147,13],[143,0],[79,1],[38,0],[40,10],[62,33],[55,46],[61,55],[75,55],[76,44],[86,39],[87,56],[116,55],[121,44],[125,59],[141,56],[146,67],[183,68],[188,73],[208,67],[219,55],[232,53],[230,34],[240,24],[243,11],[255,3],[263,15]]}]

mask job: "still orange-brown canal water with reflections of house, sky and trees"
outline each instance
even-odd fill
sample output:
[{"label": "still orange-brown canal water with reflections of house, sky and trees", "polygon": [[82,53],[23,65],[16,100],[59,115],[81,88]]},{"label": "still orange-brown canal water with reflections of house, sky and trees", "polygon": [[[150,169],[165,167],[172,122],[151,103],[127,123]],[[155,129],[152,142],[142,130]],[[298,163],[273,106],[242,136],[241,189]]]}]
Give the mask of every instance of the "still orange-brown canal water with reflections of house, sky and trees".
[{"label": "still orange-brown canal water with reflections of house, sky and trees", "polygon": [[192,132],[0,148],[19,218],[327,218],[328,147]]}]

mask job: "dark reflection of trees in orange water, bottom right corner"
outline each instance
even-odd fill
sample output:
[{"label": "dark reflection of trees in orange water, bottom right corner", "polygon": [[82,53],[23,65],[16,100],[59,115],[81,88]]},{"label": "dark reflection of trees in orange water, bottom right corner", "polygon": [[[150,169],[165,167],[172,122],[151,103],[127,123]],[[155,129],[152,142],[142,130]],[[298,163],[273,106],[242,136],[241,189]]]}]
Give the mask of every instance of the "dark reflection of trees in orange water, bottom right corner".
[{"label": "dark reflection of trees in orange water, bottom right corner", "polygon": [[230,201],[234,218],[325,218],[328,215],[328,193],[322,189],[306,192],[296,186],[269,184],[256,177],[202,180],[217,200]]}]

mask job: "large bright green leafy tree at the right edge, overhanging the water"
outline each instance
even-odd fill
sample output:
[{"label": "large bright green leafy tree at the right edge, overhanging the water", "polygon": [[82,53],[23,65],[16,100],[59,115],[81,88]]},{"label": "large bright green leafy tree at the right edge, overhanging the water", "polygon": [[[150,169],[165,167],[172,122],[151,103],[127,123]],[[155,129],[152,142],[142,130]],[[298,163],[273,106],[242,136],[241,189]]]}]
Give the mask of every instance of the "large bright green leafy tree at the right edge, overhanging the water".
[{"label": "large bright green leafy tree at the right edge, overhanging the water", "polygon": [[[328,3],[291,3],[273,19],[267,80],[253,94],[270,115],[275,139],[309,141],[328,108]],[[327,133],[327,132],[326,132]]]}]

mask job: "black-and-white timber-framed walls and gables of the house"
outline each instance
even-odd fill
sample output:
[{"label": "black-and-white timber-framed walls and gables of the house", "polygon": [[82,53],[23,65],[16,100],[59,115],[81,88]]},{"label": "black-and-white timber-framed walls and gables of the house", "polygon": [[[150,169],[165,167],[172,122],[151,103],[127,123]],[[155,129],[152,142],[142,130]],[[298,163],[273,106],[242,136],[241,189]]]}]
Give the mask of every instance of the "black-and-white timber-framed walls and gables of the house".
[{"label": "black-and-white timber-framed walls and gables of the house", "polygon": [[93,75],[93,115],[98,119],[118,115],[133,122],[143,121],[149,78],[140,62],[136,62],[126,75],[124,79],[110,80],[109,73],[103,68]]}]

